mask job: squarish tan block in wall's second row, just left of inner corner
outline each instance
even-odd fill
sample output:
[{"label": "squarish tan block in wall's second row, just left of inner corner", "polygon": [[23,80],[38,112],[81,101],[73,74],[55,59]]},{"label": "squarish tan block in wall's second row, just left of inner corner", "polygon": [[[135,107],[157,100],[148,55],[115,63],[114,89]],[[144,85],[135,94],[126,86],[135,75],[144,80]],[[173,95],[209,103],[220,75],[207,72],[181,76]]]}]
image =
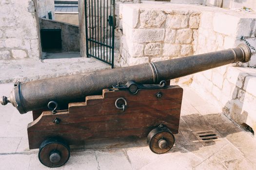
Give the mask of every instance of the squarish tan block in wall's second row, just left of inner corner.
[{"label": "squarish tan block in wall's second row, just left of inner corner", "polygon": [[193,40],[192,35],[193,32],[189,28],[177,30],[175,42],[190,44]]}]

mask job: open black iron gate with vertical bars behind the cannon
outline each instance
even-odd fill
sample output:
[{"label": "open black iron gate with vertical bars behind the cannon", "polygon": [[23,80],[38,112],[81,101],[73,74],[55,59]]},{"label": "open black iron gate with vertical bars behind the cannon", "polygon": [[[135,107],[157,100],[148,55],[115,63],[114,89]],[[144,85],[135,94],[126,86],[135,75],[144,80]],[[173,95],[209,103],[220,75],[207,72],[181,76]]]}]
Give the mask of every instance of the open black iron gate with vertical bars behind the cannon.
[{"label": "open black iron gate with vertical bars behind the cannon", "polygon": [[114,68],[115,0],[85,0],[86,54]]}]

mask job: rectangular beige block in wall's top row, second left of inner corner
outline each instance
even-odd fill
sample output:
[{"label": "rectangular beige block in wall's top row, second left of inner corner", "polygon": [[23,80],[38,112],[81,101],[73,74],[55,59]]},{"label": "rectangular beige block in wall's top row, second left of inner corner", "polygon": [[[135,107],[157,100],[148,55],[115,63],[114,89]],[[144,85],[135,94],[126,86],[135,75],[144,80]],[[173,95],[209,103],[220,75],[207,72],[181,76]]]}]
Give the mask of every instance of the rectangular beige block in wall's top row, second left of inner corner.
[{"label": "rectangular beige block in wall's top row, second left of inner corner", "polygon": [[188,28],[189,16],[187,15],[167,15],[166,28],[178,29]]}]

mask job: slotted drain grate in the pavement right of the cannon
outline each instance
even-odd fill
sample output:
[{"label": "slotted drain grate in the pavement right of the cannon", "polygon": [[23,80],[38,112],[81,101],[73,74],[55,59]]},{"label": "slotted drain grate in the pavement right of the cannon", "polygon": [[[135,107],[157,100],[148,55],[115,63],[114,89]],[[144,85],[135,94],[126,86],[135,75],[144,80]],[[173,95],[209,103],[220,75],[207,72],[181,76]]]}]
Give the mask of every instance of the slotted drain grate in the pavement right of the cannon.
[{"label": "slotted drain grate in the pavement right of the cannon", "polygon": [[219,134],[213,130],[196,131],[193,134],[204,145],[213,144],[219,140]]}]

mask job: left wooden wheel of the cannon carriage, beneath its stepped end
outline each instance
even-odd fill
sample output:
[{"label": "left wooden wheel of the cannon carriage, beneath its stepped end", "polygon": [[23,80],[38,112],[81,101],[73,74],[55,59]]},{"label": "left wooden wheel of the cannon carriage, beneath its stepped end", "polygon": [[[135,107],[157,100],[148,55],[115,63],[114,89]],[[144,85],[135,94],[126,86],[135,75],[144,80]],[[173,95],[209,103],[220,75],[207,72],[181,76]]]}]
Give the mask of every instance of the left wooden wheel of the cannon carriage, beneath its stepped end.
[{"label": "left wooden wheel of the cannon carriage, beneath its stepped end", "polygon": [[39,161],[47,167],[60,167],[68,161],[69,156],[69,145],[58,137],[44,140],[39,147]]}]

